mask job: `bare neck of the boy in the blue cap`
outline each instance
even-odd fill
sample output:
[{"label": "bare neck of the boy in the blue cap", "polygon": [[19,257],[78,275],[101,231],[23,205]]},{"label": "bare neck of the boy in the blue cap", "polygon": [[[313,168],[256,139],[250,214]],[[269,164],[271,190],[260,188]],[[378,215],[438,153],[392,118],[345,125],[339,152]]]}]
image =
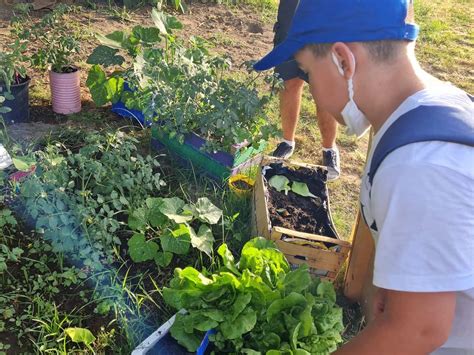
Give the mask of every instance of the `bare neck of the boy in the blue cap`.
[{"label": "bare neck of the boy in the blue cap", "polygon": [[376,66],[371,77],[360,108],[375,132],[408,97],[425,89],[432,78],[420,68],[414,56],[389,66]]}]

